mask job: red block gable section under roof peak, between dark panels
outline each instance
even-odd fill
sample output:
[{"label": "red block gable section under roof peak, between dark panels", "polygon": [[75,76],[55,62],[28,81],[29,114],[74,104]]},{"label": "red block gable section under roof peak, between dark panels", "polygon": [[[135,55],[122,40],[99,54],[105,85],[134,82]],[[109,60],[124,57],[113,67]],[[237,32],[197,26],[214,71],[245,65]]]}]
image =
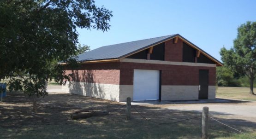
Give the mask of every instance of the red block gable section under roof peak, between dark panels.
[{"label": "red block gable section under roof peak, between dark panels", "polygon": [[173,44],[173,39],[165,42],[165,61],[182,62],[182,43],[178,39],[176,44]]}]

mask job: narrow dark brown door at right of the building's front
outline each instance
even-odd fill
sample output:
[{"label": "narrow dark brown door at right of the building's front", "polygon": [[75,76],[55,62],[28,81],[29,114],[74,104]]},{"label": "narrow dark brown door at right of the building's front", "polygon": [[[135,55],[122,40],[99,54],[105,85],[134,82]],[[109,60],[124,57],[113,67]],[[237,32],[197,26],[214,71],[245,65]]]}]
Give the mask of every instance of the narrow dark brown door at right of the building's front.
[{"label": "narrow dark brown door at right of the building's front", "polygon": [[198,99],[208,99],[208,69],[199,69]]}]

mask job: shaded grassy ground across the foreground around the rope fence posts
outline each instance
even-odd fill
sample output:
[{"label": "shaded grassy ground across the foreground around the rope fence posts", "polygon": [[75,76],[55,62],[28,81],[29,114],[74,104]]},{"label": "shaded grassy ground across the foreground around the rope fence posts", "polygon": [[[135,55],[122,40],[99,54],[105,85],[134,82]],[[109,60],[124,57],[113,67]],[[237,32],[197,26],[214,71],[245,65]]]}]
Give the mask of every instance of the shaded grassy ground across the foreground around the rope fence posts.
[{"label": "shaded grassy ground across the foreground around the rope fence posts", "polygon": [[[9,93],[0,103],[0,139],[200,139],[201,118],[175,124],[145,121],[135,110],[125,120],[125,108],[107,116],[71,120],[76,110],[115,110],[122,104],[73,94],[50,93],[38,100],[38,113],[32,112],[30,99],[22,93]],[[175,104],[174,104],[175,105]],[[169,110],[161,105],[136,106],[144,116],[157,122],[175,122],[201,113]],[[232,127],[256,136],[254,122],[217,117]],[[249,139],[240,133],[209,121],[209,139]]]}]

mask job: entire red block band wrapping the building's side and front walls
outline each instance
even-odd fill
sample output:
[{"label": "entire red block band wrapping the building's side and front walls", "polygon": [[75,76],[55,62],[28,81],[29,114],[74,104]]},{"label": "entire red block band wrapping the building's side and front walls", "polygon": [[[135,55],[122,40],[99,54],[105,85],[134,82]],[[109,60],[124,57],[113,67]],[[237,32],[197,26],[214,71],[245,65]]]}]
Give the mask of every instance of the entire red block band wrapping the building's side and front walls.
[{"label": "entire red block band wrapping the building's side and front walls", "polygon": [[208,69],[209,85],[215,85],[215,67],[113,62],[83,64],[77,70],[67,69],[66,74],[72,74],[71,81],[133,85],[133,69],[161,70],[162,85],[198,85],[199,69]]}]

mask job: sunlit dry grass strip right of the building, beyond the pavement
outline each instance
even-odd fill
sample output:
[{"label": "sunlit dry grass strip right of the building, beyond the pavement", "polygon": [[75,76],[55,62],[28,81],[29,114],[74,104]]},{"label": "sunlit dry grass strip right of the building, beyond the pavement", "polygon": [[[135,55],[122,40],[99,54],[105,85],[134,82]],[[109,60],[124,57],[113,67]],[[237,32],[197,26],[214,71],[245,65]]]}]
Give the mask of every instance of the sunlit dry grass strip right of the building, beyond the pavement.
[{"label": "sunlit dry grass strip right of the building, beyond the pavement", "polygon": [[[254,91],[256,92],[256,88],[254,88]],[[249,87],[218,87],[216,98],[256,101],[256,95],[252,95],[249,92]]]}]

